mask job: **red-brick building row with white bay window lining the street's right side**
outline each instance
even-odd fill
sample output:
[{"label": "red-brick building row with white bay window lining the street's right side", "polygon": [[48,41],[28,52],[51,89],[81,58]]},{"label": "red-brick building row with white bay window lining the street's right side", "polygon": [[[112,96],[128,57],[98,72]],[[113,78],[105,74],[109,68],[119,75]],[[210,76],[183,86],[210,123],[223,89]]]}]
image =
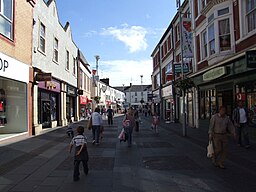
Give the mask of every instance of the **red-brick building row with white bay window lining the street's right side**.
[{"label": "red-brick building row with white bay window lining the street's right side", "polygon": [[[192,127],[208,127],[209,120],[220,106],[227,107],[231,117],[238,100],[252,112],[251,127],[256,119],[256,2],[251,0],[184,1],[162,39],[152,53],[153,93],[158,101],[164,103],[164,74],[161,70],[169,60],[173,62],[173,98],[175,98],[175,118],[182,112],[186,122]],[[188,61],[188,72],[184,77],[177,72],[176,63],[187,62],[184,47],[181,52],[178,22],[191,19],[193,57]],[[172,31],[172,32],[170,32]],[[168,35],[172,36],[172,49],[165,45]],[[184,44],[184,42],[182,42]],[[182,44],[181,43],[181,44]],[[163,48],[162,48],[163,47]],[[167,54],[165,51],[167,50]],[[167,56],[165,56],[167,55]],[[173,60],[169,59],[173,55]],[[184,70],[184,68],[183,68]],[[183,71],[184,72],[184,71]],[[184,100],[177,83],[190,79],[193,87],[187,90]],[[184,82],[184,81],[183,81]],[[162,91],[158,91],[158,89]],[[157,96],[160,95],[160,97]],[[180,101],[179,101],[180,100]],[[183,108],[185,103],[185,108]],[[164,105],[163,110],[164,110]],[[164,113],[164,112],[163,112]],[[251,131],[253,128],[251,129]]]}]

